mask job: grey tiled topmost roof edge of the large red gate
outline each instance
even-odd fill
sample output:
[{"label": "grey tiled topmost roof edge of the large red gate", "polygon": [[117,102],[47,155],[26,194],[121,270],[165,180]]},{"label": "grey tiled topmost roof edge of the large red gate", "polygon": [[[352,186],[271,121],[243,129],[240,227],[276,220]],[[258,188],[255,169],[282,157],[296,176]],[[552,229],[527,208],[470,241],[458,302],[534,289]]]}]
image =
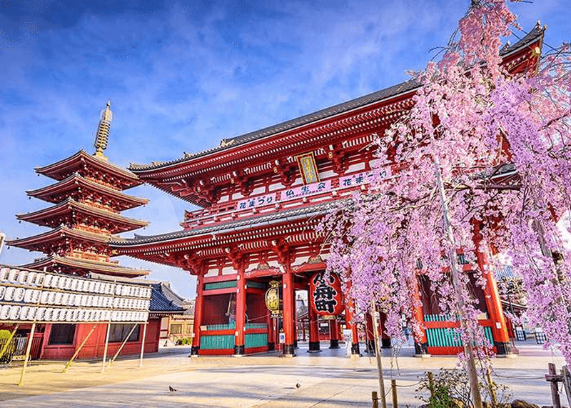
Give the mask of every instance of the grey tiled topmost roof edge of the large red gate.
[{"label": "grey tiled topmost roof edge of the large red gate", "polygon": [[[527,46],[530,46],[530,44],[534,44],[535,42],[542,40],[544,32],[545,28],[542,28],[539,24],[537,24],[537,26],[535,26],[529,33],[527,33],[522,39],[517,41],[515,44],[509,45],[509,43],[507,43],[500,50],[500,56],[502,56],[505,59],[508,56],[517,54],[518,52],[525,49]],[[240,136],[235,136],[232,137],[231,139],[223,139],[220,145],[213,147],[211,149],[198,151],[193,154],[185,153],[183,157],[171,161],[153,161],[151,164],[131,163],[128,169],[133,171],[133,173],[141,175],[147,172],[152,173],[153,171],[159,169],[169,169],[171,167],[176,167],[179,164],[183,163],[184,164],[191,163],[192,161],[196,161],[197,159],[200,159],[205,156],[210,156],[213,154],[217,154],[221,151],[233,149],[234,147],[241,146],[243,144],[248,144],[249,142],[252,141],[258,141],[260,139],[268,138],[270,136],[276,136],[285,131],[295,129],[300,126],[313,124],[323,119],[328,119],[332,116],[344,114],[346,112],[353,111],[354,109],[358,109],[363,106],[392,99],[395,96],[399,96],[402,94],[407,94],[408,92],[415,91],[416,89],[420,88],[420,86],[421,85],[417,81],[415,81],[414,79],[410,79],[408,81],[401,82],[400,84],[396,84],[393,86],[389,86],[388,88],[381,89],[380,91],[375,91],[371,94],[351,99],[350,101],[345,101],[343,103],[336,104],[334,106],[330,106],[325,109],[320,109],[319,111],[315,111],[310,114],[299,116],[295,119],[290,119],[288,121],[284,121],[273,126],[268,126],[263,129],[242,134]]]}]

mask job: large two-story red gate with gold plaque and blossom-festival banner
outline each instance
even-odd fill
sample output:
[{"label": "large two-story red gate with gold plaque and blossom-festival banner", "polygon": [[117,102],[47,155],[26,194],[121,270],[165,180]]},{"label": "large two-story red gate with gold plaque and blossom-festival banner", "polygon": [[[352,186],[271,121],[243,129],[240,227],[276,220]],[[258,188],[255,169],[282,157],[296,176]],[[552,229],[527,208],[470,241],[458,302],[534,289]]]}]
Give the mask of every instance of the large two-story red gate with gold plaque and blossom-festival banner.
[{"label": "large two-story red gate with gold plaque and blossom-festival banner", "polygon": [[[502,51],[511,72],[537,66],[543,29]],[[186,212],[183,229],[168,234],[113,239],[119,254],[180,267],[196,275],[192,354],[244,354],[271,350],[283,343],[293,355],[297,319],[295,292],[309,291],[309,351],[318,351],[320,323],[330,324],[331,347],[340,338],[340,320],[353,331],[359,353],[358,327],[351,299],[325,282],[328,247],[315,232],[320,217],[355,189],[367,191],[373,171],[390,177],[398,164],[376,166],[375,134],[411,106],[419,85],[406,81],[329,108],[248,134],[223,139],[219,146],[180,159],[149,165],[131,164],[141,181],[196,204]],[[477,242],[478,237],[475,236]],[[462,261],[462,255],[459,255]],[[487,285],[473,284],[479,300],[480,325],[497,354],[509,352],[505,317],[487,259],[463,263],[466,273],[479,270]],[[474,279],[473,279],[474,280]],[[453,354],[460,344],[450,334],[457,327],[440,314],[428,277],[418,277],[412,294],[423,306],[411,314],[424,322],[418,353]],[[365,336],[370,342],[370,319]],[[381,318],[380,329],[383,329]],[[390,339],[383,335],[383,345]]]}]

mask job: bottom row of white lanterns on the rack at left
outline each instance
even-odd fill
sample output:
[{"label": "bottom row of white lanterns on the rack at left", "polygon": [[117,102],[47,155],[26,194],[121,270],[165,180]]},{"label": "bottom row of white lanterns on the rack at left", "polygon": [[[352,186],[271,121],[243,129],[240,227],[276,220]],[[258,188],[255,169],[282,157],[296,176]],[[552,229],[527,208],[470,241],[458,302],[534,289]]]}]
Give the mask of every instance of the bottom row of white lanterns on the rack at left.
[{"label": "bottom row of white lanterns on the rack at left", "polygon": [[4,304],[0,306],[0,321],[146,322],[147,318],[148,312],[68,309],[63,307],[29,307],[15,304]]}]

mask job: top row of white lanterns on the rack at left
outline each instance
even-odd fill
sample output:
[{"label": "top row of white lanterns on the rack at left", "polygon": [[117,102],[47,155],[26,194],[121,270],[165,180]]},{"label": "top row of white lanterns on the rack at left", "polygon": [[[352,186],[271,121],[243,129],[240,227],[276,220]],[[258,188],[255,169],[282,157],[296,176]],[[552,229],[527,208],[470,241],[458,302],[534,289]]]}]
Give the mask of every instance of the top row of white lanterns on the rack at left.
[{"label": "top row of white lanterns on the rack at left", "polygon": [[1,268],[0,282],[23,285],[27,287],[44,287],[69,290],[72,292],[90,292],[95,294],[114,294],[116,296],[138,297],[148,299],[151,297],[151,288],[132,284],[116,284],[69,277],[44,272],[24,271],[20,269]]}]

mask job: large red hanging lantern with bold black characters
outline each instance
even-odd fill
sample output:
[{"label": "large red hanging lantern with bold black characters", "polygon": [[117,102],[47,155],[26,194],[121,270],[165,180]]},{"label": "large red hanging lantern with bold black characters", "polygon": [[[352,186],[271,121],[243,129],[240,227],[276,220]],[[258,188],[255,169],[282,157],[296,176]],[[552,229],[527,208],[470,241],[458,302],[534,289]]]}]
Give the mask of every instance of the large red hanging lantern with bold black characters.
[{"label": "large red hanging lantern with bold black characters", "polygon": [[309,302],[318,316],[334,319],[343,312],[341,281],[337,274],[330,273],[325,279],[325,271],[316,272],[309,281]]}]

